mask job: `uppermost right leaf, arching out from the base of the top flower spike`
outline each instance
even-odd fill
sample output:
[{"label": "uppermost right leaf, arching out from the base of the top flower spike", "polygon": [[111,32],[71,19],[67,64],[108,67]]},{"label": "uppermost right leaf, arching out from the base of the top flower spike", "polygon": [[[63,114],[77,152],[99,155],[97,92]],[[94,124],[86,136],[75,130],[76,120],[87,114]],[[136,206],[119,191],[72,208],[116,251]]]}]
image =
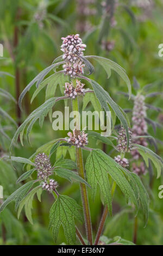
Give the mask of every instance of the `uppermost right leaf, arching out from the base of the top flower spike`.
[{"label": "uppermost right leaf, arching out from the base of the top flower spike", "polygon": [[93,58],[95,60],[97,60],[97,62],[99,64],[101,64],[103,66],[103,68],[105,69],[106,73],[108,74],[108,78],[111,75],[111,69],[116,71],[118,73],[118,75],[121,76],[121,78],[124,80],[124,82],[126,82],[127,86],[128,86],[128,92],[129,92],[129,98],[131,95],[131,84],[130,84],[130,80],[126,74],[126,71],[117,63],[113,62],[110,59],[106,59],[104,57],[99,57],[99,56],[85,56],[85,58]]}]

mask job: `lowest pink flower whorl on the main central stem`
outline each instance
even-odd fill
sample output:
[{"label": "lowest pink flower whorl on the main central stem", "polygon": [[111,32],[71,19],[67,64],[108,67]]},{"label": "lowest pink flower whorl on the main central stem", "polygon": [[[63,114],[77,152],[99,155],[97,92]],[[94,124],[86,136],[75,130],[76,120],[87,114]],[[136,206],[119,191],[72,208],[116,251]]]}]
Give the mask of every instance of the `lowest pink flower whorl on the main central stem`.
[{"label": "lowest pink flower whorl on the main central stem", "polygon": [[76,131],[73,130],[73,132],[68,132],[67,135],[70,137],[68,139],[68,142],[76,145],[77,148],[85,147],[87,145],[87,133],[84,131],[81,131],[79,135],[76,135]]}]

